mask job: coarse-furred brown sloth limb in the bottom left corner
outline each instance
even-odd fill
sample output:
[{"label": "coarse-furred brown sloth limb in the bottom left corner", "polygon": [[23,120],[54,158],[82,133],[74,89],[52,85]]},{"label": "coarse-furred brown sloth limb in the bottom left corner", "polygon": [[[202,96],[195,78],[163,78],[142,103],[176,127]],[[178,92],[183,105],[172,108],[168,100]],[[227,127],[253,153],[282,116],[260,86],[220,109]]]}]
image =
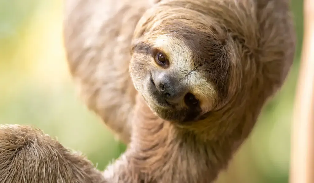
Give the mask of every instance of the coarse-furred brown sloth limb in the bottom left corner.
[{"label": "coarse-furred brown sloth limb in the bottom left corner", "polygon": [[79,153],[30,126],[0,126],[1,183],[104,183]]}]

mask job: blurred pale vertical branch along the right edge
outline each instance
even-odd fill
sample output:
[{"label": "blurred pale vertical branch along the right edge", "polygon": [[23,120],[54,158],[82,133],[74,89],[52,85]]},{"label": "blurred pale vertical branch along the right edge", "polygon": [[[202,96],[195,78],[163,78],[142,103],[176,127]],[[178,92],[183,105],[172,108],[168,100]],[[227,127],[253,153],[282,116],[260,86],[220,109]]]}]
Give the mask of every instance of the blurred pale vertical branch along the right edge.
[{"label": "blurred pale vertical branch along the right edge", "polygon": [[314,1],[304,1],[304,39],[292,124],[290,183],[314,182]]}]

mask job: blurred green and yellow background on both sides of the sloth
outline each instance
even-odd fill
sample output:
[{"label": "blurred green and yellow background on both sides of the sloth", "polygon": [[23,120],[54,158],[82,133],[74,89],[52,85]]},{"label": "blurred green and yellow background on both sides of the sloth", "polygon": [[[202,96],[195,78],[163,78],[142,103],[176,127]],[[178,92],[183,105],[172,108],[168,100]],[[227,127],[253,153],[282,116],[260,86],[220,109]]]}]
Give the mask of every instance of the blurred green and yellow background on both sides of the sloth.
[{"label": "blurred green and yellow background on both sides of the sloth", "polygon": [[[302,0],[292,1],[298,45],[290,76],[218,183],[288,183],[302,7]],[[62,47],[62,0],[0,0],[0,123],[39,127],[86,154],[100,170],[124,151],[79,100],[69,77]]]}]

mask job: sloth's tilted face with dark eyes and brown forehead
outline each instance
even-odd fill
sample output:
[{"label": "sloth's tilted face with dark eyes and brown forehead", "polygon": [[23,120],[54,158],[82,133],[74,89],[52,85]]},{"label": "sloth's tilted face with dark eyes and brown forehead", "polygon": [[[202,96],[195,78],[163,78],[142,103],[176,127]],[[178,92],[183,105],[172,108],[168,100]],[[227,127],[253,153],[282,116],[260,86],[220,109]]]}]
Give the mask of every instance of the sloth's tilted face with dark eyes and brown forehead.
[{"label": "sloth's tilted face with dark eyes and brown forehead", "polygon": [[184,123],[204,118],[224,101],[230,61],[217,30],[176,26],[159,27],[135,41],[130,73],[155,114]]}]

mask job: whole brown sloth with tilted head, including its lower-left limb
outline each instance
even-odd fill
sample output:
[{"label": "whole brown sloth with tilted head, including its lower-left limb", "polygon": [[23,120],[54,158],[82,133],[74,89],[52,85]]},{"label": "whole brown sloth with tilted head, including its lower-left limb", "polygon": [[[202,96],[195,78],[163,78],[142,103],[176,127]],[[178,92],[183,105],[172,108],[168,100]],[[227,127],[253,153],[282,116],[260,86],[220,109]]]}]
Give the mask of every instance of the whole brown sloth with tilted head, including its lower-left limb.
[{"label": "whole brown sloth with tilted head, including its lower-left limb", "polygon": [[288,0],[67,0],[64,17],[73,80],[127,150],[101,173],[37,130],[2,127],[2,182],[211,183],[295,54]]}]

